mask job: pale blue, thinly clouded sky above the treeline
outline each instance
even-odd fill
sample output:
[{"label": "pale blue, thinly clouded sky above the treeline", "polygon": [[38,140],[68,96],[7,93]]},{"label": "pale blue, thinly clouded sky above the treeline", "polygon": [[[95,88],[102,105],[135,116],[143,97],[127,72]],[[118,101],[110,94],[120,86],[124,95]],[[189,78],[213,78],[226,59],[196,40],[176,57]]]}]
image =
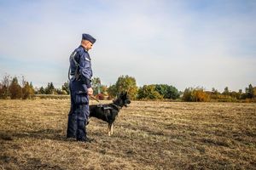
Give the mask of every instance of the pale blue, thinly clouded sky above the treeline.
[{"label": "pale blue, thinly clouded sky above the treeline", "polygon": [[106,85],[129,75],[179,90],[256,86],[254,0],[0,0],[0,16],[1,78],[61,87],[69,55],[90,33],[94,76]]}]

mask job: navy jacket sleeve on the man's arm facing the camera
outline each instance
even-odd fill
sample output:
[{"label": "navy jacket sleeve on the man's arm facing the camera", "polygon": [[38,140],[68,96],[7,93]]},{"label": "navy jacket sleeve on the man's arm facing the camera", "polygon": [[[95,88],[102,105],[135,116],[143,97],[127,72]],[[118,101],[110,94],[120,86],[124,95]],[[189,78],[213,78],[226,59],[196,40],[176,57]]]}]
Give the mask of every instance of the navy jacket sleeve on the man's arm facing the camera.
[{"label": "navy jacket sleeve on the man's arm facing the camera", "polygon": [[82,54],[79,60],[79,72],[81,75],[81,80],[84,82],[87,88],[91,88],[90,77],[91,77],[91,67],[90,59],[86,58],[86,54]]}]

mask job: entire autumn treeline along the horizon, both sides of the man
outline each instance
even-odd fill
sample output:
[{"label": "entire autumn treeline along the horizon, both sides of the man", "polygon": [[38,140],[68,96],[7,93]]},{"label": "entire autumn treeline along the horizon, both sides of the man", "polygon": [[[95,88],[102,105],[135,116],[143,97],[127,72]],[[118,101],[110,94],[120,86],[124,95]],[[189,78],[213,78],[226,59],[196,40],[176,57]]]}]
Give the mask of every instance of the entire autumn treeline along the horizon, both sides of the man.
[{"label": "entire autumn treeline along the horizon, both sides of the man", "polygon": [[[39,94],[69,94],[69,82],[64,82],[61,88],[55,88],[53,82],[48,82],[47,86],[33,88],[32,82],[26,82],[22,77],[21,83],[17,77],[5,76],[0,82],[0,99],[32,99]],[[212,91],[206,91],[204,88],[185,88],[184,91],[178,91],[172,85],[168,84],[150,84],[138,87],[136,79],[129,76],[120,76],[113,85],[102,85],[99,77],[94,77],[91,81],[94,95],[97,99],[113,99],[123,91],[127,91],[131,99],[138,100],[176,100],[189,102],[237,102],[237,101],[256,101],[256,87],[249,84],[245,91],[241,89],[230,91],[228,87],[223,92],[218,92],[212,88]],[[41,95],[42,96],[42,95]],[[47,95],[44,95],[44,98]]]}]

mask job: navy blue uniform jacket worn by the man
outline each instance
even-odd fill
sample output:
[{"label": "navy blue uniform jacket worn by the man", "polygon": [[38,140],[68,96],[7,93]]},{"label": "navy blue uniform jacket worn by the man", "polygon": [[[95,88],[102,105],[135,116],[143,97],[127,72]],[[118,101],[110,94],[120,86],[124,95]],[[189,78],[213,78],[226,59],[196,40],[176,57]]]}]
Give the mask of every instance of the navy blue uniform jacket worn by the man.
[{"label": "navy blue uniform jacket worn by the man", "polygon": [[[75,61],[72,59],[75,59]],[[70,72],[71,75],[75,75],[77,69],[76,63],[79,64],[79,75],[80,80],[84,82],[87,88],[90,88],[90,78],[92,77],[90,55],[83,46],[76,48],[70,57]]]}]

